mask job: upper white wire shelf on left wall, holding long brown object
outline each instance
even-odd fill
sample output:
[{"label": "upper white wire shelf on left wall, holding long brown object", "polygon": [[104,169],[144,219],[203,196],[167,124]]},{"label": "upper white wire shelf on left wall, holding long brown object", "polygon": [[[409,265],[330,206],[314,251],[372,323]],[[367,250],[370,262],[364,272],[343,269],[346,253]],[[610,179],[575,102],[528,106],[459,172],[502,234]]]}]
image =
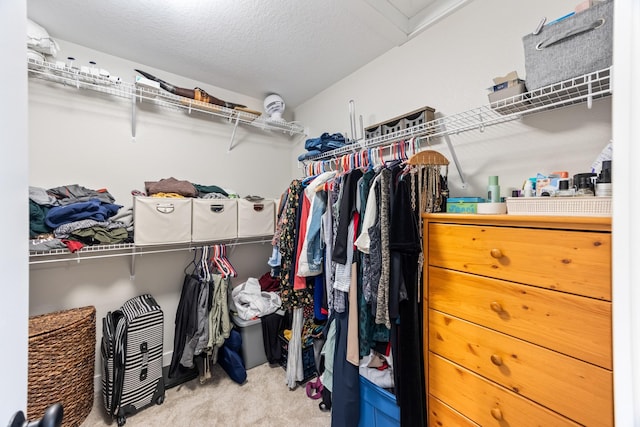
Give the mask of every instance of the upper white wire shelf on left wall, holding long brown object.
[{"label": "upper white wire shelf on left wall, holding long brown object", "polygon": [[[27,59],[27,68],[30,76],[47,81],[63,84],[76,89],[91,90],[112,96],[132,99],[136,102],[148,101],[154,105],[187,113],[199,112],[225,119],[237,126],[238,124],[252,126],[264,131],[277,131],[290,136],[304,135],[304,127],[298,123],[284,120],[270,120],[260,114],[252,114],[246,111],[221,107],[214,104],[196,101],[182,96],[174,95],[163,90],[153,90],[135,83],[123,82],[106,76],[89,74],[77,68],[68,66],[58,67],[51,62],[38,62]],[[135,112],[132,113],[135,120]],[[235,128],[234,128],[235,132]],[[132,125],[132,134],[135,137],[135,125]]]}]

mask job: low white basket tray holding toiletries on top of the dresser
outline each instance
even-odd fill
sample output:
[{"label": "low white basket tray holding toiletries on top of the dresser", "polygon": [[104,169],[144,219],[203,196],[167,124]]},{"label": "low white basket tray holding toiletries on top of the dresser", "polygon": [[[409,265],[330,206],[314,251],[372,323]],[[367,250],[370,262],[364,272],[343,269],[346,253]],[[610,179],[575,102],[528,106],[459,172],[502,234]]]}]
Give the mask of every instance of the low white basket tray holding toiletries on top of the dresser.
[{"label": "low white basket tray holding toiletries on top of the dresser", "polygon": [[510,215],[611,216],[611,197],[507,197]]}]

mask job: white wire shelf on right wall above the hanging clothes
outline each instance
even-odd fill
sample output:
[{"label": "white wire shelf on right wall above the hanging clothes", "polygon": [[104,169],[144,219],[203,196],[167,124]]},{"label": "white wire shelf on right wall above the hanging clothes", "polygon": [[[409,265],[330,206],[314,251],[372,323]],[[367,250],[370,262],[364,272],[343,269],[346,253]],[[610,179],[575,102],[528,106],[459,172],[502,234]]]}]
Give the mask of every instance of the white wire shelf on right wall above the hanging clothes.
[{"label": "white wire shelf on right wall above the hanging clothes", "polygon": [[500,123],[520,119],[525,115],[587,103],[611,95],[611,68],[554,83],[534,91],[467,110],[439,117],[435,120],[386,135],[354,142],[344,147],[305,159],[303,163],[331,159],[363,149],[379,147],[413,137],[436,138],[484,129]]}]

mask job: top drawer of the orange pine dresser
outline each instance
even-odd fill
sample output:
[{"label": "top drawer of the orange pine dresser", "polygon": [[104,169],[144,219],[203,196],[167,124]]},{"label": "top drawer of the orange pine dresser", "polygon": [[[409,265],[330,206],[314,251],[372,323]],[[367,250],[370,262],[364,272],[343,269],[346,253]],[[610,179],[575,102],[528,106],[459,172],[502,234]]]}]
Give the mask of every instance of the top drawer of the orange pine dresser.
[{"label": "top drawer of the orange pine dresser", "polygon": [[429,224],[428,263],[611,300],[611,234]]}]

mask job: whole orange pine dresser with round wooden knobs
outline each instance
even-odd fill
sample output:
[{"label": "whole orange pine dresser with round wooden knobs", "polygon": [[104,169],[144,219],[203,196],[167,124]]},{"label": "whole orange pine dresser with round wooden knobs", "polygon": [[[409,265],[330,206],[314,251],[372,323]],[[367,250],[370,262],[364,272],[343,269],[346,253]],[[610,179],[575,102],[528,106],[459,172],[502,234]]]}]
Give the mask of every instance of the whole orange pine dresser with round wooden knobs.
[{"label": "whole orange pine dresser with round wooden knobs", "polygon": [[430,426],[613,426],[611,219],[426,214]]}]

